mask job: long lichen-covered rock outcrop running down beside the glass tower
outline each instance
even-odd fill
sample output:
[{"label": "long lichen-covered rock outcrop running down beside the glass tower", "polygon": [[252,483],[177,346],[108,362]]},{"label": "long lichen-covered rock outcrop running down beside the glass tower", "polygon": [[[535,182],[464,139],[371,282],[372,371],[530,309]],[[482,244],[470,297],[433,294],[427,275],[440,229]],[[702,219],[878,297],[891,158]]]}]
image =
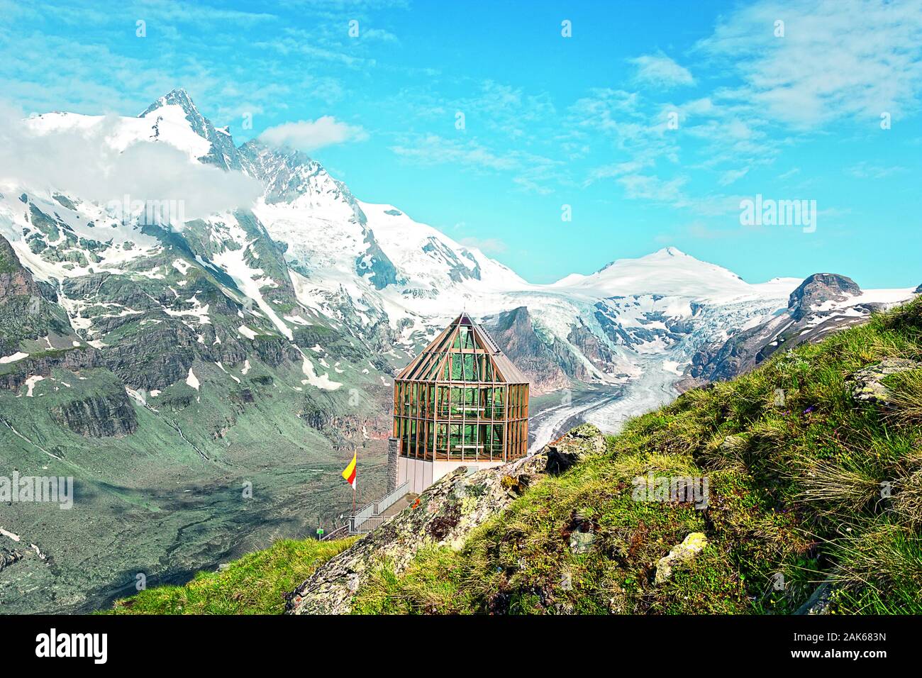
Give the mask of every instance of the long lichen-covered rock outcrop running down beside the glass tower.
[{"label": "long lichen-covered rock outcrop running down beside the glass tower", "polygon": [[[399,573],[423,546],[459,550],[471,530],[501,512],[535,482],[557,472],[559,466],[550,464],[550,447],[501,467],[452,471],[420,494],[419,503],[318,568],[286,597],[286,612],[349,613],[352,596],[384,561]],[[575,463],[604,450],[605,438],[595,426],[585,424],[553,447],[561,457]]]}]

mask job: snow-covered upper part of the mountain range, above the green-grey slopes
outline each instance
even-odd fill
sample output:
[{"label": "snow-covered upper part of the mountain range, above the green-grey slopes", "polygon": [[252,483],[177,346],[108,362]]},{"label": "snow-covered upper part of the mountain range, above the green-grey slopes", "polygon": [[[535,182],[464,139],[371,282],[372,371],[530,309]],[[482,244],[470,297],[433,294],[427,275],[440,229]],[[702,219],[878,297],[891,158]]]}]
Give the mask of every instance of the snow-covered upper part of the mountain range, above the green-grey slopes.
[{"label": "snow-covered upper part of the mountain range, above the green-grey slopes", "polygon": [[[532,284],[403,209],[361,201],[304,153],[273,149],[258,139],[235,147],[230,129],[212,125],[183,89],[160,97],[139,117],[53,113],[30,124],[46,132],[77,130],[116,150],[136,142],[168,144],[200,170],[202,163],[211,164],[228,171],[207,168],[216,177],[256,184],[247,197],[254,202],[208,211],[187,220],[183,233],[164,237],[148,234],[139,223],[113,223],[86,196],[30,192],[20,199],[21,192],[11,192],[0,200],[0,233],[40,280],[100,273],[170,280],[170,294],[182,299],[180,288],[191,284],[185,271],[201,268],[216,276],[235,303],[265,321],[260,331],[297,341],[313,321],[328,323],[396,362],[465,308],[479,317],[524,308],[527,313],[516,317],[529,318],[534,332],[522,346],[545,345],[547,360],[535,364],[561,364],[564,376],[554,384],[624,383],[650,373],[656,393],[665,397],[694,351],[772,317],[800,282],[752,285],[727,268],[664,247],[616,259],[588,275]],[[129,172],[133,167],[125,165]],[[183,184],[187,198],[188,190]],[[80,315],[79,304],[92,296],[84,287],[82,296],[63,295],[62,303],[71,304],[71,320],[85,339],[104,341],[104,323]],[[254,303],[246,306],[247,299]],[[211,311],[194,300],[184,298],[182,313],[189,317],[183,322],[200,332]],[[170,307],[171,313],[180,310]],[[235,331],[250,337],[258,325],[247,317],[244,329]]]}]

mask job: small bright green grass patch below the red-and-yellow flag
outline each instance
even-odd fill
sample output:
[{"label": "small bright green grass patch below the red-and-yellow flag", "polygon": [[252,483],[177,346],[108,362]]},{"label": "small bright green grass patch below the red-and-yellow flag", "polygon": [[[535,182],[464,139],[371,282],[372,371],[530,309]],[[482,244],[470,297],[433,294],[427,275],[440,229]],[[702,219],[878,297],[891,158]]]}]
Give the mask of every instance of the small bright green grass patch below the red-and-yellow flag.
[{"label": "small bright green grass patch below the red-and-yellow flag", "polygon": [[199,572],[183,586],[162,586],[117,601],[111,614],[280,614],[284,595],[354,539],[277,541],[220,572]]}]

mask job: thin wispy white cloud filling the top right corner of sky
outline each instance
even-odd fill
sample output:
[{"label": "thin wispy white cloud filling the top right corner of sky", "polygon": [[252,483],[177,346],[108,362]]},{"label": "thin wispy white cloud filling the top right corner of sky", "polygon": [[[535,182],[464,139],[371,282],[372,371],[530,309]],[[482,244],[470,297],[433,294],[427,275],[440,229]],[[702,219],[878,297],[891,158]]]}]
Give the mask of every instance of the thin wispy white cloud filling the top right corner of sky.
[{"label": "thin wispy white cloud filling the top right corner of sky", "polygon": [[[784,37],[775,21],[784,21]],[[730,14],[698,43],[742,86],[717,96],[808,128],[843,117],[898,118],[922,92],[922,3],[760,2]]]}]

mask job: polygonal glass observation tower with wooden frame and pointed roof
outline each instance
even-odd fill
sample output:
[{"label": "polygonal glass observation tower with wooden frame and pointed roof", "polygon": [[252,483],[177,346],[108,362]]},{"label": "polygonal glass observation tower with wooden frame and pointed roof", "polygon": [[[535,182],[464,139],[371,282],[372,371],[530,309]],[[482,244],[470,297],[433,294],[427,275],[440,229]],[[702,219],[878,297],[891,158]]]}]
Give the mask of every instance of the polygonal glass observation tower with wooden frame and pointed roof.
[{"label": "polygonal glass observation tower with wooden frame and pointed roof", "polygon": [[409,492],[458,466],[525,457],[528,380],[461,314],[397,375],[394,438],[395,480]]}]

